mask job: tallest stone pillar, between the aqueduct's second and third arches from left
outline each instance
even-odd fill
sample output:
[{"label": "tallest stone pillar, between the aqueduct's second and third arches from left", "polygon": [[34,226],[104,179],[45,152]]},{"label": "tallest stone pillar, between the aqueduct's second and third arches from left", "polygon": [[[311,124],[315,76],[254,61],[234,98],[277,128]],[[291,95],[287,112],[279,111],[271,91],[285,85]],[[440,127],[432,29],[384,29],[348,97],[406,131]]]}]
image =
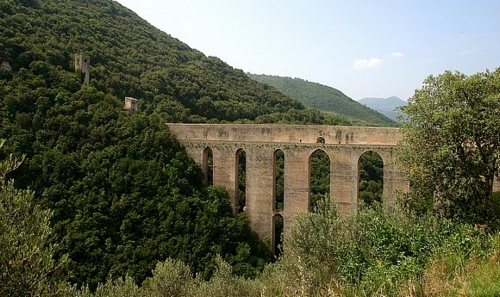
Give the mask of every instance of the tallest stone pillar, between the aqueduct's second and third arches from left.
[{"label": "tallest stone pillar, between the aqueduct's second and third arches from left", "polygon": [[246,149],[246,208],[250,227],[273,240],[274,149]]}]

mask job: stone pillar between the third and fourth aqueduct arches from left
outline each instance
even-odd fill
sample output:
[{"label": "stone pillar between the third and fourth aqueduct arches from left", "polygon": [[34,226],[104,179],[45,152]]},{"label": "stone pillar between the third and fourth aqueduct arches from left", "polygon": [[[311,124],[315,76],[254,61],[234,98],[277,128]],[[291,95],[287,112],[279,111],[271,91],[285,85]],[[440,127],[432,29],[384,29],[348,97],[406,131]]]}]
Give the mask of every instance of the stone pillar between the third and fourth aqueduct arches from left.
[{"label": "stone pillar between the third and fourth aqueduct arches from left", "polygon": [[[309,156],[306,150],[285,150],[283,232],[287,234],[298,212],[309,210]],[[285,236],[286,237],[286,236]]]}]

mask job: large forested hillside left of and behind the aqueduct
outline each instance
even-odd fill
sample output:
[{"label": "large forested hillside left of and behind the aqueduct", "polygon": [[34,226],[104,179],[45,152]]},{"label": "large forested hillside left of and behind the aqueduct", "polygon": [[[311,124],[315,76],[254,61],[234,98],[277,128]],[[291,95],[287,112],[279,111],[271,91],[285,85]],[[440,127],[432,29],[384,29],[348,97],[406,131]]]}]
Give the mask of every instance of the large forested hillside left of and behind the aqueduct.
[{"label": "large forested hillside left of and behind the aqueduct", "polygon": [[[89,86],[74,54],[90,57]],[[140,283],[168,257],[205,277],[216,254],[245,276],[273,259],[163,123],[348,124],[111,0],[0,1],[0,64],[0,157],[26,154],[8,177],[54,212],[55,257],[68,255],[55,277],[91,288],[109,275]]]}]

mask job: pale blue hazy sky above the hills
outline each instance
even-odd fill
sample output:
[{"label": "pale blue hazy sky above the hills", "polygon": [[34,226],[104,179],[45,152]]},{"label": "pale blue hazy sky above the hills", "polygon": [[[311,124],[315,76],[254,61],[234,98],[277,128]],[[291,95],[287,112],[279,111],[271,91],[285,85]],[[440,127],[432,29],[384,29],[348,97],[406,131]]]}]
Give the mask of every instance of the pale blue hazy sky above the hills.
[{"label": "pale blue hazy sky above the hills", "polygon": [[207,56],[352,99],[398,96],[445,70],[500,67],[498,0],[118,0]]}]

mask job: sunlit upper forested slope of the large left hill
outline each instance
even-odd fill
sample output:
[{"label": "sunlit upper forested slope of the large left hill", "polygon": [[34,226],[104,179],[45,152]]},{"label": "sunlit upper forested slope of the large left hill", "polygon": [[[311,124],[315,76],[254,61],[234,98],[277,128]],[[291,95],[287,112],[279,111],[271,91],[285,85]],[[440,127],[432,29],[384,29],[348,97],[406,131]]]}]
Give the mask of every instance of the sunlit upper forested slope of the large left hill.
[{"label": "sunlit upper forested slope of the large left hill", "polygon": [[81,85],[73,55],[82,53],[90,57],[91,86],[118,98],[138,98],[142,110],[164,121],[255,120],[290,110],[287,120],[317,121],[295,99],[189,48],[111,0],[65,5],[39,0],[30,7],[3,1],[0,19],[0,60],[13,68],[6,79],[50,74],[30,88],[71,85],[72,93]]}]

